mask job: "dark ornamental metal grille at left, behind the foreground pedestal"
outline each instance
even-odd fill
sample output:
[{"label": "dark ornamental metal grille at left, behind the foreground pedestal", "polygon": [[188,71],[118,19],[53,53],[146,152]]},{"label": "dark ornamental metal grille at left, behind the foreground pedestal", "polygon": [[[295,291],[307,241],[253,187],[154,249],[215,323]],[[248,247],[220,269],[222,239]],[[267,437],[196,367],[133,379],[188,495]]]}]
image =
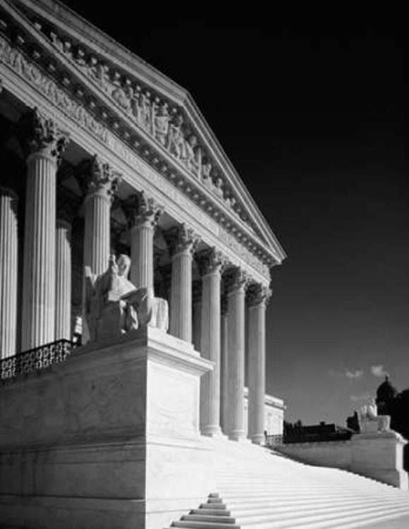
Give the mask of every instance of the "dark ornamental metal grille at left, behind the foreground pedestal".
[{"label": "dark ornamental metal grille at left, behind the foreground pedestal", "polygon": [[16,379],[21,375],[31,375],[64,362],[74,347],[72,341],[59,340],[4,358],[0,360],[1,382]]}]

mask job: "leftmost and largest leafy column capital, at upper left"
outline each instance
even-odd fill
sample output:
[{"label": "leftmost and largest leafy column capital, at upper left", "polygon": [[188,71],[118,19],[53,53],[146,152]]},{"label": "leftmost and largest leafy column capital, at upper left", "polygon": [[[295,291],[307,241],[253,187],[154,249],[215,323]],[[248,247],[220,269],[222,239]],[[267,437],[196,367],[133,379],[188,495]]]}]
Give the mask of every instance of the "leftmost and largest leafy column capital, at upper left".
[{"label": "leftmost and largest leafy column capital, at upper left", "polygon": [[69,133],[35,107],[20,118],[18,137],[26,157],[42,154],[59,164],[68,145]]}]

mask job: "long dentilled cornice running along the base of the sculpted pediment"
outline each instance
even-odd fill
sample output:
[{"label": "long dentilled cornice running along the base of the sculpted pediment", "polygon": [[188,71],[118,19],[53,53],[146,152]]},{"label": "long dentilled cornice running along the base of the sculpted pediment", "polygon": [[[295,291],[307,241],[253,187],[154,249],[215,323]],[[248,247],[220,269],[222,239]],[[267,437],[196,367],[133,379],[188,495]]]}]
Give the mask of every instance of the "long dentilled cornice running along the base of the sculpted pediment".
[{"label": "long dentilled cornice running along the base of the sculpted pediment", "polygon": [[[7,2],[0,0],[0,7],[5,8]],[[14,13],[13,13],[14,14]],[[190,200],[196,203],[201,209],[213,217],[220,226],[223,234],[226,231],[226,241],[229,245],[235,245],[232,241],[237,241],[239,248],[247,248],[250,255],[254,255],[254,260],[263,263],[266,267],[271,267],[281,262],[282,256],[271,253],[266,248],[264,241],[260,240],[252,229],[238,219],[238,215],[226,207],[226,204],[214,193],[203,188],[202,183],[197,181],[192,174],[177,159],[174,159],[169,152],[164,149],[159,142],[138,128],[134,120],[126,115],[123,109],[115,108],[112,99],[98,90],[97,84],[90,80],[85,73],[78,71],[71,59],[61,53],[46,36],[39,33],[39,27],[34,28],[30,22],[19,18],[16,13],[12,24],[16,24],[11,31],[10,25],[1,25],[1,30],[8,32],[8,40],[13,36],[13,47],[20,49],[23,54],[30,54],[30,61],[36,63],[37,68],[47,68],[48,74],[52,75],[55,83],[61,87],[60,90],[71,93],[71,97],[80,101],[78,114],[82,119],[78,121],[87,122],[92,133],[96,133],[100,140],[104,141],[104,130],[111,130],[121,141],[131,150],[142,157],[156,169],[159,174],[173,183]],[[22,35],[23,34],[23,35]],[[85,110],[85,107],[87,109]],[[104,115],[105,113],[105,115]],[[71,116],[73,117],[73,116]],[[104,120],[105,125],[101,121]]]}]

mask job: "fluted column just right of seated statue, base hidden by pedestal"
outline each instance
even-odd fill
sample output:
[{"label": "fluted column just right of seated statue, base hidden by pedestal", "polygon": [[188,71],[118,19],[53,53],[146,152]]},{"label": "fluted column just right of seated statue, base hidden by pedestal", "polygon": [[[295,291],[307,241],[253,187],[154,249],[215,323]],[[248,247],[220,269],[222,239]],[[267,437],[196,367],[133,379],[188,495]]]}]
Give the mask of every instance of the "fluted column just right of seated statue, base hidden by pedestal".
[{"label": "fluted column just right of seated statue, base hidden by pedestal", "polygon": [[192,341],[192,258],[199,238],[185,224],[168,233],[172,253],[171,334]]}]

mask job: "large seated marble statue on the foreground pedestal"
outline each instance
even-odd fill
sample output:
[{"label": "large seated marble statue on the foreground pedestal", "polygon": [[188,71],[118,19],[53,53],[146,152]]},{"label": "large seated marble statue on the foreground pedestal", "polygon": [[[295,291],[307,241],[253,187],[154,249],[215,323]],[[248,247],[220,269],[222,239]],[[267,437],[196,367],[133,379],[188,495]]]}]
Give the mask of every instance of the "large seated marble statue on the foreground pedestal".
[{"label": "large seated marble statue on the foreground pedestal", "polygon": [[[128,280],[130,258],[109,257],[108,269],[95,276],[85,267],[85,317],[90,340],[116,336],[153,324],[168,328],[166,300],[154,298],[148,288],[135,288]],[[152,323],[151,323],[152,322]]]}]

